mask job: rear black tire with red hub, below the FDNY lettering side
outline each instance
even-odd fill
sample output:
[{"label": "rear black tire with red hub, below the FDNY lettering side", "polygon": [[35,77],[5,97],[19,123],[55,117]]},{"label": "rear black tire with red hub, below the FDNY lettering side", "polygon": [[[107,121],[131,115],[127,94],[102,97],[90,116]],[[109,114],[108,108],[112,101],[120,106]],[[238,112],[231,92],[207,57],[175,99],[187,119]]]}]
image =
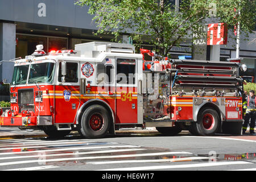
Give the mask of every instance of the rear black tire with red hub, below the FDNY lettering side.
[{"label": "rear black tire with red hub, below the FDNY lettering side", "polygon": [[220,125],[220,117],[216,110],[205,107],[197,116],[197,122],[192,125],[193,131],[199,135],[214,135],[218,131]]}]

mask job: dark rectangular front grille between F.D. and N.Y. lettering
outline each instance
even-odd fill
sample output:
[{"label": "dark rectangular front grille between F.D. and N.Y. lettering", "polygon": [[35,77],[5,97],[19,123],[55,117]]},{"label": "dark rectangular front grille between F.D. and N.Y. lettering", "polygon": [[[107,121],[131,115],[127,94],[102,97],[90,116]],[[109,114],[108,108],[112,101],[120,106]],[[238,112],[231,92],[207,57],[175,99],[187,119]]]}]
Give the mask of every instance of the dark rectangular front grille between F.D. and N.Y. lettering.
[{"label": "dark rectangular front grille between F.D. and N.Y. lettering", "polygon": [[34,111],[34,90],[20,89],[18,90],[19,113],[23,110]]}]

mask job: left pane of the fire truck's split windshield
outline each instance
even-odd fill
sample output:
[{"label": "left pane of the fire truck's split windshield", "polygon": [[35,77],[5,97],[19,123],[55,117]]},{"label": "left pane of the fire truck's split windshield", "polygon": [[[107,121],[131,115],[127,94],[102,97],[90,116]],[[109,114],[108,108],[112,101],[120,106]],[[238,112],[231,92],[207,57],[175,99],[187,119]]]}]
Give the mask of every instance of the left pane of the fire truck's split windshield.
[{"label": "left pane of the fire truck's split windshield", "polygon": [[14,67],[12,85],[26,84],[28,67],[30,67],[29,64]]}]

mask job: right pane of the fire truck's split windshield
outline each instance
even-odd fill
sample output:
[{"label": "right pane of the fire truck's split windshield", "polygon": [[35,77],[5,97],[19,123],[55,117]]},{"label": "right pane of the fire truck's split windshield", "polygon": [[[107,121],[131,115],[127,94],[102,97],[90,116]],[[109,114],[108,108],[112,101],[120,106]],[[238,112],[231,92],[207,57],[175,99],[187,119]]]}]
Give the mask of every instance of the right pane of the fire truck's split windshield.
[{"label": "right pane of the fire truck's split windshield", "polygon": [[52,82],[54,65],[54,63],[31,64],[28,84]]}]

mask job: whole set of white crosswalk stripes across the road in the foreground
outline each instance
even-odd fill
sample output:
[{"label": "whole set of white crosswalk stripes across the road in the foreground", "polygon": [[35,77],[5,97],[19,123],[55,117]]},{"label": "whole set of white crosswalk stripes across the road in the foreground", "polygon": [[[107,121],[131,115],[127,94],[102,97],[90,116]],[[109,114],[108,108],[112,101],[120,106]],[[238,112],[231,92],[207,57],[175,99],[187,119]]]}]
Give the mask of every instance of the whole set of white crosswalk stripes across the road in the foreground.
[{"label": "whole set of white crosswalk stripes across the road in the foreground", "polygon": [[[76,146],[79,145],[79,146]],[[97,146],[92,146],[96,144]],[[80,146],[81,145],[81,146]],[[57,147],[57,148],[56,148]],[[15,151],[28,148],[32,151]],[[30,148],[30,149],[29,149]],[[42,149],[42,150],[41,150]],[[14,151],[4,151],[14,150]],[[119,153],[118,153],[119,152]],[[16,155],[20,154],[20,155]],[[151,156],[151,158],[150,158]],[[175,157],[175,158],[172,158]],[[129,160],[130,159],[130,160]],[[240,164],[252,164],[249,161],[224,161],[210,162],[213,157],[195,156],[191,152],[185,151],[164,151],[156,148],[135,146],[130,144],[121,144],[115,142],[97,142],[95,140],[12,140],[0,144],[0,170],[3,171],[36,171],[43,169],[58,168],[62,162],[75,162],[79,160],[82,163],[90,165],[101,165],[97,169],[105,167],[100,171],[139,171],[139,170],[163,170],[179,168],[200,168],[214,166],[228,166]],[[216,159],[216,158],[214,158]],[[18,160],[18,161],[17,161]],[[199,161],[192,164],[178,164],[172,162]],[[200,160],[209,160],[208,163]],[[53,162],[53,163],[49,163]],[[34,163],[34,164],[33,164]],[[37,163],[37,164],[36,164]],[[48,165],[46,166],[46,163]],[[122,167],[122,164],[136,165],[137,167]],[[147,163],[144,166],[143,163]],[[150,163],[154,163],[154,166]],[[20,164],[24,164],[20,168]],[[26,164],[34,167],[26,167]],[[110,168],[104,164],[117,164]],[[172,165],[171,165],[172,164]],[[17,165],[17,166],[15,166]],[[54,166],[56,165],[56,166]],[[245,167],[245,166],[243,166]],[[250,166],[251,167],[251,166]],[[238,167],[237,167],[238,168]],[[245,167],[246,168],[246,167]],[[256,168],[235,169],[235,171],[255,171]]]}]

